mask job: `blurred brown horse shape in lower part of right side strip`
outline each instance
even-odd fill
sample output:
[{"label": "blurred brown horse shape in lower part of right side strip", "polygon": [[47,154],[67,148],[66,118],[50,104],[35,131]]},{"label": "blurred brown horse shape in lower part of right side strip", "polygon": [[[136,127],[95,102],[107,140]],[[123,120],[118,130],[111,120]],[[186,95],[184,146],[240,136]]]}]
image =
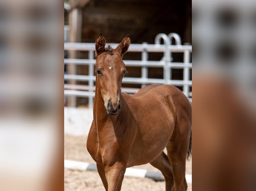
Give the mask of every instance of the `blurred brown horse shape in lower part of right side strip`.
[{"label": "blurred brown horse shape in lower part of right side strip", "polygon": [[251,190],[256,170],[253,100],[216,76],[193,77],[193,86],[194,188]]}]

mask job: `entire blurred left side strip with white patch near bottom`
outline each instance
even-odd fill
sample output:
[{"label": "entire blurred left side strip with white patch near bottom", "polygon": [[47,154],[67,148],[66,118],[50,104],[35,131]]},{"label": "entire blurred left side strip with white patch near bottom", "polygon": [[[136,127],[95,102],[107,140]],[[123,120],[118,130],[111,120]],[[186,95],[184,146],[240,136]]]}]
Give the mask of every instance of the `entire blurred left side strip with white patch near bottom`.
[{"label": "entire blurred left side strip with white patch near bottom", "polygon": [[58,190],[63,180],[62,11],[57,1],[0,0],[0,190]]}]

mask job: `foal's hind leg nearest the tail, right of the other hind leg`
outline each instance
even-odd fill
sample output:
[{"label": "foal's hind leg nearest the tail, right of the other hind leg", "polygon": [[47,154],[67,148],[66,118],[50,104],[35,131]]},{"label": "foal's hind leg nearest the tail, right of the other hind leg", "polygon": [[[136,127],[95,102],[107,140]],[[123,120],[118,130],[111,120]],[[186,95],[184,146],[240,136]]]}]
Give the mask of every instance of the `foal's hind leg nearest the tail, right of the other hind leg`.
[{"label": "foal's hind leg nearest the tail, right of the other hind leg", "polygon": [[[182,126],[183,130],[181,128]],[[176,124],[171,140],[166,146],[167,156],[173,170],[174,187],[172,188],[172,191],[187,190],[187,183],[185,179],[185,166],[189,147],[190,130],[186,131],[184,129],[188,127],[189,125],[187,125],[186,122],[183,122],[183,124]],[[191,126],[189,128],[191,128]],[[189,132],[189,134],[187,132]]]}]

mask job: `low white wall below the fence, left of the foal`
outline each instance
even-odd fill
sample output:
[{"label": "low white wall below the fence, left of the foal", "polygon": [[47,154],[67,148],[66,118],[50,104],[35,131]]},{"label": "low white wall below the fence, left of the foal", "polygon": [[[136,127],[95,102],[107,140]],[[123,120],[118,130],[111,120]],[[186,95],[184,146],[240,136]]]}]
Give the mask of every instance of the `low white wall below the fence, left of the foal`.
[{"label": "low white wall below the fence, left of the foal", "polygon": [[88,135],[93,121],[93,109],[64,107],[64,133]]}]

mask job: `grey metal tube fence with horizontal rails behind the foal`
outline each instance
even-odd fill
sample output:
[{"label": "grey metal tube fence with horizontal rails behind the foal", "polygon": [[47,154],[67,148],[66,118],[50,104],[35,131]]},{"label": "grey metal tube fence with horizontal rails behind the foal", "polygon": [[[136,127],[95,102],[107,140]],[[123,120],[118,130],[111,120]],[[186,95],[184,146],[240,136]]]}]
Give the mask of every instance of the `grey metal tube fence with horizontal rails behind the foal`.
[{"label": "grey metal tube fence with horizontal rails behind the foal", "polygon": [[[164,44],[160,44],[163,39]],[[175,45],[172,45],[172,39],[175,40]],[[118,44],[113,44],[116,48]],[[95,94],[95,62],[94,51],[95,43],[64,43],[64,50],[88,51],[88,59],[64,59],[64,64],[87,65],[89,66],[88,75],[70,75],[65,74],[65,80],[86,81],[88,86],[79,88],[76,85],[66,84],[64,86],[64,94],[89,98],[89,107],[93,107],[93,99]],[[169,35],[160,33],[155,37],[155,44],[130,44],[128,52],[141,52],[141,60],[124,60],[126,66],[141,67],[141,78],[124,77],[123,84],[140,84],[144,87],[149,84],[171,84],[174,86],[182,86],[183,93],[192,101],[192,94],[189,87],[192,87],[190,80],[190,69],[192,68],[191,45],[181,45],[181,40],[178,34],[170,33]],[[148,60],[148,53],[162,52],[163,57],[160,61]],[[172,62],[172,53],[183,53],[183,62]],[[148,78],[148,68],[159,67],[163,68],[163,79]],[[171,69],[183,69],[183,80],[172,80]],[[69,90],[68,90],[69,89]],[[70,90],[73,89],[73,90]],[[125,89],[122,92],[134,94],[138,89]]]}]

